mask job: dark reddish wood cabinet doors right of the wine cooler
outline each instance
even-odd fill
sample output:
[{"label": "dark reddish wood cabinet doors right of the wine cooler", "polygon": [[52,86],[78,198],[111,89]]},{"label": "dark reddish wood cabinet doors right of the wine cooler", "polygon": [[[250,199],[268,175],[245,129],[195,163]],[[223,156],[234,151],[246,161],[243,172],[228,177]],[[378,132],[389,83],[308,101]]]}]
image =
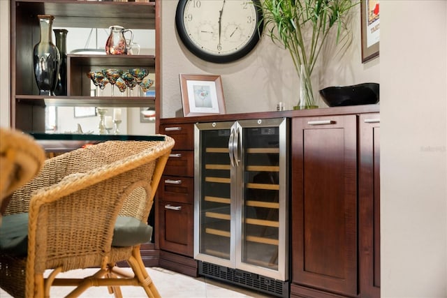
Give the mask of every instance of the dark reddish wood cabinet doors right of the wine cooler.
[{"label": "dark reddish wood cabinet doors right of the wine cooler", "polygon": [[292,119],[291,297],[380,297],[379,114]]}]

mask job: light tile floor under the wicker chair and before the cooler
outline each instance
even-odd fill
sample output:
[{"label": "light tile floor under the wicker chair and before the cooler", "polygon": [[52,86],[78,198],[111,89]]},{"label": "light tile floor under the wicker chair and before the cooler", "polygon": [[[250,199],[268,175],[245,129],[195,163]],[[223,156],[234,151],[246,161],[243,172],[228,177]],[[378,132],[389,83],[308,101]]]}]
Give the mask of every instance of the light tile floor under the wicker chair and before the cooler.
[{"label": "light tile floor under the wicker chair and before the cooler", "polygon": [[[59,274],[60,277],[78,278],[82,276],[89,276],[94,274],[95,269],[73,270],[64,274]],[[240,288],[227,283],[221,283],[212,278],[185,276],[173,271],[163,268],[151,267],[147,268],[149,276],[154,281],[157,289],[163,298],[267,298],[270,295],[265,295],[261,292],[255,292]],[[64,297],[71,291],[71,287],[53,287],[50,295],[51,297]],[[140,287],[126,286],[122,287],[123,297],[147,297],[144,290]],[[3,290],[0,290],[1,298],[11,297]],[[113,297],[108,294],[105,287],[89,288],[80,297]]]}]

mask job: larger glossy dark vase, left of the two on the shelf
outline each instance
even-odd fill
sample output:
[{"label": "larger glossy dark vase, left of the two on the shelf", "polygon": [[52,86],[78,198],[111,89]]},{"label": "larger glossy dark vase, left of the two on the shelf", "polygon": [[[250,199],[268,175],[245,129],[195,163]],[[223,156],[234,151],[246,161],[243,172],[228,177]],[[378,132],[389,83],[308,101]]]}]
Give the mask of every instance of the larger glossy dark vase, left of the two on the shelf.
[{"label": "larger glossy dark vase, left of the two on the shelf", "polygon": [[41,40],[34,45],[34,77],[39,95],[54,95],[59,76],[60,55],[52,43],[52,15],[38,15],[41,26]]}]

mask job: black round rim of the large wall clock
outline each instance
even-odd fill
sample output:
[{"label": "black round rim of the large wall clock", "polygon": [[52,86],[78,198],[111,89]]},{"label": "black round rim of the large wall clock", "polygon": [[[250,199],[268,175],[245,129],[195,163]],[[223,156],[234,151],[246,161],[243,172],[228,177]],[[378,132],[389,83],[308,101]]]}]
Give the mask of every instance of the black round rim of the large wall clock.
[{"label": "black round rim of the large wall clock", "polygon": [[237,50],[237,52],[234,52],[233,54],[216,55],[204,52],[203,50],[201,50],[200,47],[198,47],[195,43],[191,41],[188,33],[186,33],[186,29],[184,27],[183,13],[187,1],[191,0],[179,0],[179,3],[177,4],[177,9],[175,11],[175,27],[177,28],[179,38],[182,40],[182,43],[185,45],[185,47],[189,50],[189,52],[193,53],[200,59],[218,64],[233,62],[249,54],[249,52],[251,52],[251,50],[254,49],[258,41],[261,39],[261,34],[263,32],[264,27],[261,2],[259,0],[252,0],[256,8],[256,17],[258,19],[258,24],[256,25],[256,27],[258,28],[258,34],[256,33],[253,34],[249,42],[246,43],[244,47],[241,47],[239,50]]}]

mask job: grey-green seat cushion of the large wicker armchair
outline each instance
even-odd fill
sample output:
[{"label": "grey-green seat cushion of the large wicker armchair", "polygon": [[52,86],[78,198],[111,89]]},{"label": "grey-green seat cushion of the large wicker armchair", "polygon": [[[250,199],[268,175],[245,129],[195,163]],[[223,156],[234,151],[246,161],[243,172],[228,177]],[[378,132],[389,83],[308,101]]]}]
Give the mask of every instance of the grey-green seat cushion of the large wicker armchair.
[{"label": "grey-green seat cushion of the large wicker armchair", "polygon": [[[112,246],[134,246],[150,240],[152,227],[131,216],[118,216],[113,229]],[[28,214],[3,216],[0,227],[0,251],[17,256],[27,255]]]}]

